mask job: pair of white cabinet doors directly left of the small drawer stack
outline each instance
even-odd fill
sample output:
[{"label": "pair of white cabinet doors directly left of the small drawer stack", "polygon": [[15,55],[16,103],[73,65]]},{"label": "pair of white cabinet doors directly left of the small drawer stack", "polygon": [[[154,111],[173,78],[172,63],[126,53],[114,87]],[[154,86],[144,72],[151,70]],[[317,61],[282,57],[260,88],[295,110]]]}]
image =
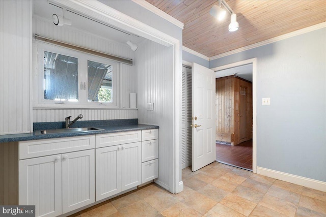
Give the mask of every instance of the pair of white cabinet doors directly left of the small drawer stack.
[{"label": "pair of white cabinet doors directly left of the small drawer stack", "polygon": [[133,142],[96,148],[96,201],[142,183],[141,147]]}]

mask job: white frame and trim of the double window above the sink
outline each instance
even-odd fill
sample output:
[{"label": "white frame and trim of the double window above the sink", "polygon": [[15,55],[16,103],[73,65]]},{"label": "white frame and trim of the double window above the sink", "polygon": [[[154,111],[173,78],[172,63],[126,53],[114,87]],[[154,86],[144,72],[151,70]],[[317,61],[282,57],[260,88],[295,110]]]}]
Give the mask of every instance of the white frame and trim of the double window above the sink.
[{"label": "white frame and trim of the double window above the sink", "polygon": [[[40,41],[35,41],[34,48],[33,55],[36,67],[33,70],[33,108],[118,108],[120,104],[120,64],[117,61]],[[44,100],[44,51],[78,58],[78,102],[64,101],[64,104],[56,104],[59,102]],[[87,102],[88,60],[113,66],[112,103]],[[86,82],[85,90],[80,89],[80,82]]]}]

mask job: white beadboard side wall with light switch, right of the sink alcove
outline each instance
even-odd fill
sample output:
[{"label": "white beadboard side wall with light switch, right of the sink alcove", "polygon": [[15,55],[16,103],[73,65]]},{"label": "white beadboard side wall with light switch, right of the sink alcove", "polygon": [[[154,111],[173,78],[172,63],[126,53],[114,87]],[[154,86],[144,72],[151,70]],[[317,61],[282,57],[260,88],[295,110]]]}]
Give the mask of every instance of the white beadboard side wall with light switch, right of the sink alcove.
[{"label": "white beadboard side wall with light switch, right of the sink alcove", "polygon": [[[158,180],[169,189],[170,163],[173,162],[173,47],[146,41],[136,51],[138,72],[138,120],[159,126]],[[153,103],[154,110],[147,110]]]}]

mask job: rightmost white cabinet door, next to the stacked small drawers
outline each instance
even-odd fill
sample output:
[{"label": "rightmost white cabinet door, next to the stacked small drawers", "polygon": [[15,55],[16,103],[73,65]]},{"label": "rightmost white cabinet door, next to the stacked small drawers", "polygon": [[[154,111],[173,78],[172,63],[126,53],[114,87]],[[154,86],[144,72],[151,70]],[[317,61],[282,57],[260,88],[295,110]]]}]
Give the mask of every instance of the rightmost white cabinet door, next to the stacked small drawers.
[{"label": "rightmost white cabinet door, next to the stacked small drawers", "polygon": [[142,143],[121,145],[121,191],[142,183]]}]

